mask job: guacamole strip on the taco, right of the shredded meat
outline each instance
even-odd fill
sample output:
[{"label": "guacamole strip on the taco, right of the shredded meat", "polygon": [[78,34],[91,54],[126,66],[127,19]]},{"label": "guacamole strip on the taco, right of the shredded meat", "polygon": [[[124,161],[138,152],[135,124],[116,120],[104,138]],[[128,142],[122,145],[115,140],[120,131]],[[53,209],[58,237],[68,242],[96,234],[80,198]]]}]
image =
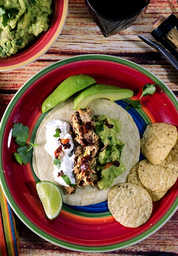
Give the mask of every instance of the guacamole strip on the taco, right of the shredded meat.
[{"label": "guacamole strip on the taco, right of the shredded meat", "polygon": [[126,170],[120,162],[124,147],[124,143],[118,139],[120,130],[119,120],[108,116],[99,116],[99,121],[96,122],[96,132],[102,142],[97,158],[97,170],[101,172],[101,180],[98,181],[100,189],[106,190],[113,184],[114,178]]}]

